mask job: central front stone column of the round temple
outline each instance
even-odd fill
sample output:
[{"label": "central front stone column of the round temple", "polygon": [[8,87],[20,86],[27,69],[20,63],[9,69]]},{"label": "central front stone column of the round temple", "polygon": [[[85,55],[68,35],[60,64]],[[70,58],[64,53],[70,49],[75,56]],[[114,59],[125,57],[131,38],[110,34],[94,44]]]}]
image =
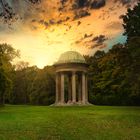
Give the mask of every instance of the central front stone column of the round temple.
[{"label": "central front stone column of the round temple", "polygon": [[76,102],[76,74],[72,73],[72,102]]}]

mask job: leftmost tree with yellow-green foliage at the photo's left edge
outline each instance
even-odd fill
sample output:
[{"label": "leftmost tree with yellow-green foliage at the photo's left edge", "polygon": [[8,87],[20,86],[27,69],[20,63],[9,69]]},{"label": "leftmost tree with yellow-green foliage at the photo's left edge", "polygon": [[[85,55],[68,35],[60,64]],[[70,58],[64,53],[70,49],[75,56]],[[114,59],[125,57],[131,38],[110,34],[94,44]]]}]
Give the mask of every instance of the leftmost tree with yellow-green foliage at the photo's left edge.
[{"label": "leftmost tree with yellow-green foliage at the photo's left edge", "polygon": [[17,56],[19,51],[8,44],[0,44],[0,104],[4,103],[4,96],[12,90],[12,61]]}]

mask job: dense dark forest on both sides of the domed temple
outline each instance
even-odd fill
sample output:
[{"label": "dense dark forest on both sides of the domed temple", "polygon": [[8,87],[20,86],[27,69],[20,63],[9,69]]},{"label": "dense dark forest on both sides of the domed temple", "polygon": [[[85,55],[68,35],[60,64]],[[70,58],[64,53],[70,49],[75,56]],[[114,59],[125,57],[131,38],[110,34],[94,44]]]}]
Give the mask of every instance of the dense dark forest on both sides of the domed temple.
[{"label": "dense dark forest on both sides of the domed temple", "polygon": [[[88,69],[89,101],[98,105],[140,105],[140,3],[122,16],[125,44],[108,52],[98,50],[85,56]],[[20,62],[19,52],[0,44],[0,105],[50,105],[55,100],[53,66],[39,69]]]}]

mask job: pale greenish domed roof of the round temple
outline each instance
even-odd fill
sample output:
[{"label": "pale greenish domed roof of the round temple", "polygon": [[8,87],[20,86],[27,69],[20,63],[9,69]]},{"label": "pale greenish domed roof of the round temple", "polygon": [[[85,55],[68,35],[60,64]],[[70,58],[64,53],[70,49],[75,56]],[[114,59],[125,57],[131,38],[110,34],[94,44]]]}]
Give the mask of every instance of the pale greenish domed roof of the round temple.
[{"label": "pale greenish domed roof of the round temple", "polygon": [[75,51],[67,51],[61,54],[59,60],[56,62],[56,64],[64,63],[86,63],[86,61],[80,53]]}]

